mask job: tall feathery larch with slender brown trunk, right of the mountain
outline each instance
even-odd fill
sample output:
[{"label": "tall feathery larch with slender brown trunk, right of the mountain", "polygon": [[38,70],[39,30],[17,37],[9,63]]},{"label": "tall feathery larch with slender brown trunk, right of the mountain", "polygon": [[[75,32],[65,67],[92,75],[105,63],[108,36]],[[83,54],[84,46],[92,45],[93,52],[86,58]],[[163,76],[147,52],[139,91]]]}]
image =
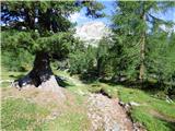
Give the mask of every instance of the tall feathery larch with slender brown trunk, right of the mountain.
[{"label": "tall feathery larch with slender brown trunk, right of the mountain", "polygon": [[175,2],[165,1],[117,1],[114,22],[115,48],[118,51],[118,64],[122,74],[139,79],[145,78],[145,56],[148,37],[160,29],[161,25],[172,26],[172,21],[158,17],[158,13],[166,12]]}]

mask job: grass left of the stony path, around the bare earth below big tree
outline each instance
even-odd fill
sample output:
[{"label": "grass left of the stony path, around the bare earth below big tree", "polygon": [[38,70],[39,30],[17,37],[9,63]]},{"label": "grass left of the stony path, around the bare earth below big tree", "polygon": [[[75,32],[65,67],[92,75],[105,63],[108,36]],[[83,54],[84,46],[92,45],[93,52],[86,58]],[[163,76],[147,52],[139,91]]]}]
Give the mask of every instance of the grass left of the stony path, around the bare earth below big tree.
[{"label": "grass left of the stony path, around the bare earth below big tree", "polygon": [[[2,68],[2,80],[14,80],[26,74],[27,72],[12,72]],[[56,74],[70,78],[69,73],[55,71]],[[82,131],[90,128],[85,110],[85,96],[82,93],[88,93],[86,87],[77,87],[71,81],[68,81],[68,94],[72,95],[73,99],[68,99],[63,105],[56,105],[56,103],[47,106],[35,103],[32,97],[37,97],[38,94],[31,98],[24,96],[11,96],[8,94],[11,87],[9,82],[1,84],[2,94],[7,94],[2,98],[1,105],[1,129],[5,131],[43,131],[43,130],[59,130],[59,131]],[[21,93],[21,92],[19,92]],[[18,98],[20,97],[20,98]],[[62,109],[62,106],[63,109]],[[54,120],[47,120],[50,116],[51,108],[60,111]]]}]

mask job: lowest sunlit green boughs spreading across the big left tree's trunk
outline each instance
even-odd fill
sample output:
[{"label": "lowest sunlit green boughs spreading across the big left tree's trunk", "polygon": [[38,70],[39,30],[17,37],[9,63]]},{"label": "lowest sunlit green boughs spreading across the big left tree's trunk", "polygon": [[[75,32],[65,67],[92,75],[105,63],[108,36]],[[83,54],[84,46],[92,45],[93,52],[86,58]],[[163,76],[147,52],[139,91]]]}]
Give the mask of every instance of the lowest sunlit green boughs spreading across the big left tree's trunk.
[{"label": "lowest sunlit green boughs spreading across the big left tree's trunk", "polygon": [[43,50],[48,51],[50,55],[58,53],[59,56],[61,52],[69,52],[74,41],[75,39],[71,32],[60,32],[58,34],[47,33],[46,36],[40,36],[37,32],[2,32],[3,50],[23,49],[31,53]]}]

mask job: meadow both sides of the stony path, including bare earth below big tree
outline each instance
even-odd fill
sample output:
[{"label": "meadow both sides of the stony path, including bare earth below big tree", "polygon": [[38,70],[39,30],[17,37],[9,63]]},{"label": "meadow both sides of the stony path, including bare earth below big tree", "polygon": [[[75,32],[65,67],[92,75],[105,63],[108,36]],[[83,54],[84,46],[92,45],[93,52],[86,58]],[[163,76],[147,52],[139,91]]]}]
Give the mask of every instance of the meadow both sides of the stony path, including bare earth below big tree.
[{"label": "meadow both sides of the stony path, including bare earth below big tree", "polygon": [[[26,72],[9,72],[2,68],[2,80],[14,80]],[[82,83],[77,76],[55,70],[55,74],[67,78],[67,100],[55,94],[38,90],[12,88],[9,82],[1,84],[1,128],[5,131],[85,131],[90,129],[85,100],[88,94],[103,91],[110,98],[122,103],[135,102],[128,114],[133,122],[141,123],[148,131],[175,130],[175,103],[167,103],[155,95],[138,88],[95,82]],[[51,103],[50,103],[51,102]]]}]

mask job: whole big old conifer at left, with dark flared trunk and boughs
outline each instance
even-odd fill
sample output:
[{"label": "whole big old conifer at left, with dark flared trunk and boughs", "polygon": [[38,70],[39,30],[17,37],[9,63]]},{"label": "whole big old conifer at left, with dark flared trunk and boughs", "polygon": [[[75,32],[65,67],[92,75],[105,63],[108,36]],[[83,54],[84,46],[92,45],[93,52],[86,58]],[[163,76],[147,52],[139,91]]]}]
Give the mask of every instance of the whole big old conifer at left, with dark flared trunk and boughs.
[{"label": "whole big old conifer at left, with dark flared trunk and boughs", "polygon": [[22,87],[33,84],[63,94],[50,68],[50,59],[63,59],[77,43],[69,16],[86,8],[86,15],[101,17],[103,4],[96,1],[3,1],[1,2],[2,49],[24,48],[35,55],[34,67],[18,80]]}]

